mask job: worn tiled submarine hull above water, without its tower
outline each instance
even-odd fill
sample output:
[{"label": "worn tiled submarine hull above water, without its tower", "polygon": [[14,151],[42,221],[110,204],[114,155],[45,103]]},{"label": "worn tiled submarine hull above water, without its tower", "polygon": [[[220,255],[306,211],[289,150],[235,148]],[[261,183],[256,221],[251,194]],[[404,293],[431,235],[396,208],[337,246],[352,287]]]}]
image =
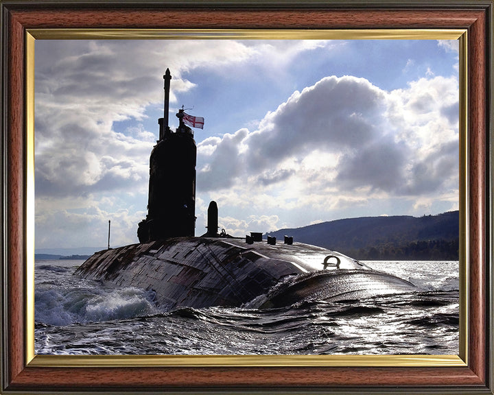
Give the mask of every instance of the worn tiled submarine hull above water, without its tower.
[{"label": "worn tiled submarine hull above water, without its tower", "polygon": [[[338,259],[325,266],[325,257]],[[347,256],[304,243],[248,245],[238,239],[176,237],[96,252],[75,272],[154,291],[163,309],[272,308],[307,298],[342,300],[412,291],[414,286]]]}]

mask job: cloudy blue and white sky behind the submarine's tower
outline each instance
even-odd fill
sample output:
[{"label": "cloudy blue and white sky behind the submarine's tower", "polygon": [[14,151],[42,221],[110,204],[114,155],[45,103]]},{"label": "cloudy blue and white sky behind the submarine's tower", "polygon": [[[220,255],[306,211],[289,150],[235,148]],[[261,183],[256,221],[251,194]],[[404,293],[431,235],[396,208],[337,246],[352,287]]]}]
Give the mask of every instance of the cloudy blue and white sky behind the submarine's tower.
[{"label": "cloudy blue and white sky behind the submarine's tower", "polygon": [[172,73],[204,117],[196,235],[458,210],[456,40],[36,40],[35,239],[137,243]]}]

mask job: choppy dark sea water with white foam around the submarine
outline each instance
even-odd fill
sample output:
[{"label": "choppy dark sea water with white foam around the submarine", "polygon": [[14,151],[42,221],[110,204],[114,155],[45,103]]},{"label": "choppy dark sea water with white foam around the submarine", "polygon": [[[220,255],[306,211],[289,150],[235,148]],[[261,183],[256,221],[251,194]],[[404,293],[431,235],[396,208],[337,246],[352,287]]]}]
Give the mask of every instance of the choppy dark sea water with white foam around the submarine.
[{"label": "choppy dark sea water with white foam around the submarine", "polygon": [[458,261],[366,262],[414,283],[408,294],[172,311],[150,291],[75,276],[82,262],[36,261],[36,354],[458,354]]}]

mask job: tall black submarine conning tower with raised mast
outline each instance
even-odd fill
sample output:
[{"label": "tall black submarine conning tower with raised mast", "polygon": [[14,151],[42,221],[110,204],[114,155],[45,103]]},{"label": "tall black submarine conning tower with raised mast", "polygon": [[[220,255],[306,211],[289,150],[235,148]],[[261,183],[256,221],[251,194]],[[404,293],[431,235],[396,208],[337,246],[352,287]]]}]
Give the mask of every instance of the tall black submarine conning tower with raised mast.
[{"label": "tall black submarine conning tower with raised mast", "polygon": [[175,132],[168,126],[169,69],[165,80],[164,117],[158,119],[159,140],[150,156],[148,215],[139,222],[140,243],[169,237],[194,236],[196,228],[196,141],[178,110]]}]

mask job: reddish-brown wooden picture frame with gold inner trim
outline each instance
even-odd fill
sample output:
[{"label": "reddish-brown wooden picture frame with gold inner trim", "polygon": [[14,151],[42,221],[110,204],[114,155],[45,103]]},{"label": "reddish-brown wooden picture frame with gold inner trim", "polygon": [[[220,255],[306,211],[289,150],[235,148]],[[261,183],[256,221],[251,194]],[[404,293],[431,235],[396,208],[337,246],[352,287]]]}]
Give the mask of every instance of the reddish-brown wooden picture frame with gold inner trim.
[{"label": "reddish-brown wooden picture frame with gold inner trim", "polygon": [[[493,393],[492,350],[492,45],[493,1],[37,1],[1,2],[2,151],[2,359],[1,391],[36,392],[325,392]],[[467,47],[468,248],[464,277],[468,311],[461,363],[197,363],[158,360],[120,363],[103,356],[72,365],[36,363],[27,347],[33,325],[25,306],[32,298],[29,261],[34,177],[26,134],[32,127],[34,78],[26,65],[30,30],[45,29],[464,29]],[[460,344],[460,349],[462,345]],[[460,352],[461,353],[461,352]],[[390,360],[393,361],[390,357]],[[396,360],[396,359],[395,359]],[[383,366],[384,365],[384,366]]]}]

